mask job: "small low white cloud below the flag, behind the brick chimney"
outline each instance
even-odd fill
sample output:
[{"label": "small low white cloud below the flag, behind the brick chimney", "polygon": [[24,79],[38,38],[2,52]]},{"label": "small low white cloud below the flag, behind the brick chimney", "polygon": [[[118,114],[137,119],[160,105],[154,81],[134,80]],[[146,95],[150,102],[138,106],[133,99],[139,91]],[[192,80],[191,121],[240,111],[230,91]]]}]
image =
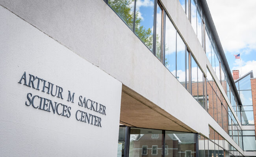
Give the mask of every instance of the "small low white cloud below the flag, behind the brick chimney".
[{"label": "small low white cloud below the flag, behind the brick chimney", "polygon": [[232,70],[239,70],[239,75],[243,76],[246,73],[253,71],[254,77],[256,76],[256,60],[244,62],[243,60],[236,60]]}]

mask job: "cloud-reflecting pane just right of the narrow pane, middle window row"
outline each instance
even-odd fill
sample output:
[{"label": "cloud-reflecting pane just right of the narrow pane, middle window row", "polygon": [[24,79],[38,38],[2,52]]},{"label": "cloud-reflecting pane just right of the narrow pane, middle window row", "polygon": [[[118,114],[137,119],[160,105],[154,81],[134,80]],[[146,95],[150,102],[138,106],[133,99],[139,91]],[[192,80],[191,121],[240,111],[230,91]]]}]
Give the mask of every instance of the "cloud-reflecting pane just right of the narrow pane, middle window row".
[{"label": "cloud-reflecting pane just right of the narrow pane, middle window row", "polygon": [[176,77],[176,29],[165,15],[165,66]]}]

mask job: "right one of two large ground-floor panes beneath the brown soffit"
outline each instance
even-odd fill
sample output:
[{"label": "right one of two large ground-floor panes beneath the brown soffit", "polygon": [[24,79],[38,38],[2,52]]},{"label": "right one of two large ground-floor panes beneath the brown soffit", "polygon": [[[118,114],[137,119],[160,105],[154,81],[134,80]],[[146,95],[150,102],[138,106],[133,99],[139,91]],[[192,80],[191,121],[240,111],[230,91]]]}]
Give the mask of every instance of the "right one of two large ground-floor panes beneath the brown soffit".
[{"label": "right one of two large ground-floor panes beneath the brown soffit", "polygon": [[178,131],[165,131],[165,145],[168,145],[168,155],[165,157],[195,157],[196,139],[195,133]]}]

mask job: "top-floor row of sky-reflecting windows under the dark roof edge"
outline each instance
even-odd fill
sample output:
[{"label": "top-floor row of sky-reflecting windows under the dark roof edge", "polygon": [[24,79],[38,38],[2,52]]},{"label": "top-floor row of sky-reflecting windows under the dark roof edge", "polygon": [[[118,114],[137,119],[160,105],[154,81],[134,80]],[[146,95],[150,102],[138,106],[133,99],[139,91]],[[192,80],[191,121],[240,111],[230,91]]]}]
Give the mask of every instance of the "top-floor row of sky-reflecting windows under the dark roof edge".
[{"label": "top-floor row of sky-reflecting windows under the dark roof edge", "polygon": [[[223,66],[223,61],[219,56],[215,40],[211,35],[211,30],[208,27],[208,22],[204,17],[204,13],[200,7],[198,0],[179,0],[182,5],[191,25],[200,41],[206,56],[208,57],[212,68],[214,69],[217,78],[220,80],[224,91],[226,92],[232,107],[234,108],[236,115],[241,121],[240,108],[237,104],[237,99],[234,97],[234,90],[230,87],[228,77],[226,75],[226,69]],[[190,8],[189,8],[190,6]],[[212,80],[212,79],[211,79]],[[213,80],[212,80],[213,81]]]}]

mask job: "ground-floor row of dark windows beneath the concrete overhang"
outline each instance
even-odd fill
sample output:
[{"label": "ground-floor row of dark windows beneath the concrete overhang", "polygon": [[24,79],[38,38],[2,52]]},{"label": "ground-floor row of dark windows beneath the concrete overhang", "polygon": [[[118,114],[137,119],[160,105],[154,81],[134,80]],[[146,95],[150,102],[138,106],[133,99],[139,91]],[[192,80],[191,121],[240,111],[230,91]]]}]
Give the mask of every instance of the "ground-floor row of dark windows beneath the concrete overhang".
[{"label": "ground-floor row of dark windows beneath the concrete overhang", "polygon": [[[228,141],[209,127],[209,139],[197,133],[119,127],[122,157],[224,157],[242,156]],[[197,147],[198,145],[198,147]]]}]

